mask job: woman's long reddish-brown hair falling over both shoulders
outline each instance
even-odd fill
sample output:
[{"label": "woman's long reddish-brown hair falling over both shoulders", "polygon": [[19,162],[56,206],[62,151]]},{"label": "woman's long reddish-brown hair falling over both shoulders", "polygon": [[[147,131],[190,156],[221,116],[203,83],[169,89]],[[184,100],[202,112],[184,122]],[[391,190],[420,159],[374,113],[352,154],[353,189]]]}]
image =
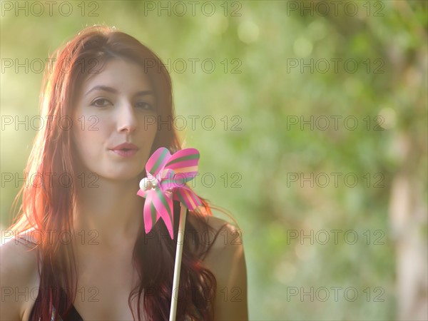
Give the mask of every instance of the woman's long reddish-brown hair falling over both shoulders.
[{"label": "woman's long reddish-brown hair falling over both shoulders", "polygon": [[[79,84],[93,72],[99,72],[106,61],[122,58],[138,63],[153,84],[158,102],[158,117],[169,121],[167,127],[159,128],[153,142],[152,153],[163,146],[171,153],[180,150],[180,142],[173,126],[173,97],[170,76],[161,59],[140,41],[108,26],[91,26],[60,47],[52,55],[56,60],[53,68],[46,69],[41,95],[41,117],[46,126],[38,132],[26,165],[31,182],[26,182],[15,198],[15,205],[22,196],[19,215],[12,230],[20,235],[31,231],[39,235],[36,246],[39,262],[40,300],[34,305],[35,320],[51,320],[52,307],[61,315],[67,315],[76,298],[76,260],[70,243],[61,242],[61,231],[73,227],[73,204],[76,201],[76,153],[71,131],[64,130],[60,121],[70,119],[73,99]],[[74,124],[73,126],[76,126]],[[48,175],[51,173],[51,175]],[[66,175],[71,184],[54,179]],[[174,205],[175,240],[178,233],[179,206]],[[186,231],[192,231],[192,238],[186,237],[183,248],[183,263],[180,273],[177,320],[210,320],[213,318],[215,277],[200,265],[200,259],[208,253],[213,243],[203,242],[202,235],[213,231],[205,216],[211,215],[210,206],[203,200],[203,207],[189,213],[198,225],[188,220]],[[188,217],[189,217],[188,215]],[[159,221],[148,235],[138,235],[133,250],[133,265],[140,274],[140,283],[131,291],[128,305],[133,317],[141,320],[144,308],[152,320],[168,320],[173,282],[173,265],[176,243],[168,238],[153,238],[168,235],[165,224]],[[56,231],[53,241],[46,235]],[[42,235],[42,237],[40,237]],[[49,235],[52,235],[50,233]],[[63,237],[63,235],[62,235]],[[146,258],[153,258],[148,264]],[[68,259],[68,260],[67,260]],[[61,271],[61,273],[59,273]],[[68,289],[68,298],[63,300],[60,289]],[[141,297],[143,304],[141,305]],[[136,314],[131,301],[138,299]]]}]

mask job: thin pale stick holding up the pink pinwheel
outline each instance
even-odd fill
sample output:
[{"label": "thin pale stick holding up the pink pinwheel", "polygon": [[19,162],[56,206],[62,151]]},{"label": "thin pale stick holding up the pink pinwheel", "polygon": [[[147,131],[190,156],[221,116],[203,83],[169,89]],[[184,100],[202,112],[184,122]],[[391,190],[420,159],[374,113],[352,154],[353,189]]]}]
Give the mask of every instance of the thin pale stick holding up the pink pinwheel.
[{"label": "thin pale stick holding up the pink pinwheel", "polygon": [[169,321],[175,321],[175,315],[177,313],[178,289],[180,286],[181,258],[183,258],[183,240],[184,240],[186,210],[187,208],[183,204],[180,204],[180,221],[178,223],[177,250],[175,250],[173,293],[171,295],[171,308],[170,308]]}]

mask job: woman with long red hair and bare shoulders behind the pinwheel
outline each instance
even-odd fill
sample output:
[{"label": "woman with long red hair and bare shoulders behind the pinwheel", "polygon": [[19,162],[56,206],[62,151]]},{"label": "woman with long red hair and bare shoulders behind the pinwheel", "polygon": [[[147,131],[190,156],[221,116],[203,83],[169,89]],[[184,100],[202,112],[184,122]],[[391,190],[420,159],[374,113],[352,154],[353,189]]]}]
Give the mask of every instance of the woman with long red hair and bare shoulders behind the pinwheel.
[{"label": "woman with long red hair and bare shoulders behind the pinwheel", "polygon": [[[180,150],[168,72],[133,37],[88,27],[58,49],[41,98],[32,181],[1,247],[1,320],[168,320],[176,244],[161,220],[145,233],[136,195],[151,154]],[[176,319],[247,320],[237,231],[205,200],[187,217]]]}]

